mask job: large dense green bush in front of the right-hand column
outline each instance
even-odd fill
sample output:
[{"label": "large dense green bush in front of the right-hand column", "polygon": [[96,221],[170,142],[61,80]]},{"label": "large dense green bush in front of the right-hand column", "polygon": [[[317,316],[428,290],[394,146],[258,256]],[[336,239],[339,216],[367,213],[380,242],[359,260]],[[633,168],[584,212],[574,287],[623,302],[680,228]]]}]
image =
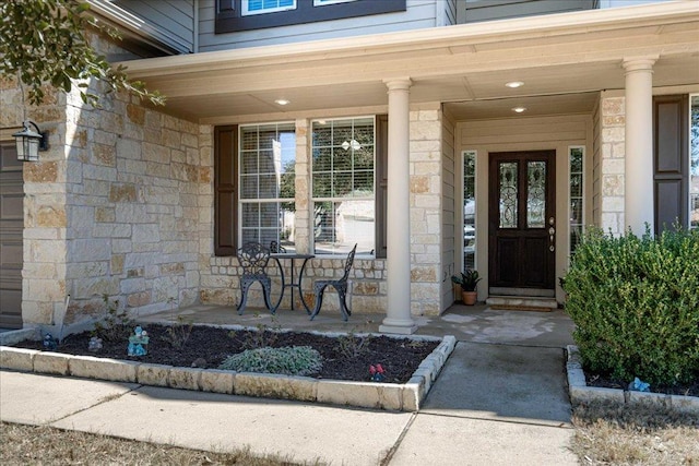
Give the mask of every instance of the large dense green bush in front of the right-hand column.
[{"label": "large dense green bush in front of the right-hand column", "polygon": [[591,230],[562,286],[585,369],[660,386],[699,375],[699,231]]}]

